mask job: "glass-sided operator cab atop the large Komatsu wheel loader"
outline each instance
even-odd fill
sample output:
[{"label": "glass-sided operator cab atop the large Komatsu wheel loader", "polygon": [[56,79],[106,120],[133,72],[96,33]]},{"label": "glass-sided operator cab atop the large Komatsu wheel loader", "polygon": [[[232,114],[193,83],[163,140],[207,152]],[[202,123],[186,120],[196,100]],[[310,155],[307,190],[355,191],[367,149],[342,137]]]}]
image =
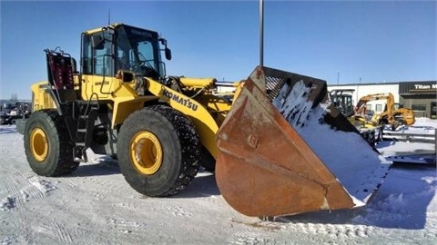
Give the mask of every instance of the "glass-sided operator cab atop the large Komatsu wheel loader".
[{"label": "glass-sided operator cab atop the large Komatsu wheel loader", "polygon": [[167,41],[157,32],[123,24],[87,31],[82,34],[82,73],[115,77],[122,70],[136,76],[164,77],[160,44],[170,60]]}]

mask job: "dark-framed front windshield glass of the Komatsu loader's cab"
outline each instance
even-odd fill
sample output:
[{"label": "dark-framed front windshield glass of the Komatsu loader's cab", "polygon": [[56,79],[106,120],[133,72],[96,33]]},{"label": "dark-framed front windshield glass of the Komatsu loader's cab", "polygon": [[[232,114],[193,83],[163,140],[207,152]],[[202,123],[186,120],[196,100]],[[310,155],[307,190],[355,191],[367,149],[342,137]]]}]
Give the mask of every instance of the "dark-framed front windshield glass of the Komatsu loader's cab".
[{"label": "dark-framed front windshield glass of the Komatsu loader's cab", "polygon": [[116,43],[116,71],[129,70],[148,77],[162,76],[158,34],[122,25]]}]

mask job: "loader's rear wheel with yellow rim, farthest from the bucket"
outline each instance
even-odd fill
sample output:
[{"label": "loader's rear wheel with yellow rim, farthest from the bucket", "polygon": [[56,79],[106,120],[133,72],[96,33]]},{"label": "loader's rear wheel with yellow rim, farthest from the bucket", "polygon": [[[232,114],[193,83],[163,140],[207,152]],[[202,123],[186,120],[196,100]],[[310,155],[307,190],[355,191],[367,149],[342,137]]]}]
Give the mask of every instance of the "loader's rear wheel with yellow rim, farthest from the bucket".
[{"label": "loader's rear wheel with yellow rim, farthest from the bucket", "polygon": [[38,175],[60,176],[76,171],[73,147],[66,122],[54,110],[30,114],[25,122],[25,155]]}]

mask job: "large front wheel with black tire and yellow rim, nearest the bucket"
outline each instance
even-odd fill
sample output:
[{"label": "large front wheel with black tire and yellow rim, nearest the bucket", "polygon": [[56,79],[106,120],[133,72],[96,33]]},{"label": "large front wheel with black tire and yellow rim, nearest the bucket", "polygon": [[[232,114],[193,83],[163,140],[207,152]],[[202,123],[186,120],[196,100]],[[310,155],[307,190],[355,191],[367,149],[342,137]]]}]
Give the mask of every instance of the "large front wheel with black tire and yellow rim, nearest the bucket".
[{"label": "large front wheel with black tire and yellow rim, nearest the bucket", "polygon": [[132,113],[118,136],[120,171],[139,193],[175,195],[198,173],[198,133],[185,115],[168,106],[154,105]]}]

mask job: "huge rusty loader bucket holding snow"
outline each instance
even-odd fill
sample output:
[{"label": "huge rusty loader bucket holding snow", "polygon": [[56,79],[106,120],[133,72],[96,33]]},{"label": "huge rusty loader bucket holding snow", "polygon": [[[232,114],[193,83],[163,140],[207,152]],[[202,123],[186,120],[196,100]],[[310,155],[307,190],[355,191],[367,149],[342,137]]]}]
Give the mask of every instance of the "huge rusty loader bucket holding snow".
[{"label": "huge rusty loader bucket holding snow", "polygon": [[350,209],[370,201],[390,164],[339,110],[326,82],[259,66],[217,134],[216,180],[254,217]]}]

